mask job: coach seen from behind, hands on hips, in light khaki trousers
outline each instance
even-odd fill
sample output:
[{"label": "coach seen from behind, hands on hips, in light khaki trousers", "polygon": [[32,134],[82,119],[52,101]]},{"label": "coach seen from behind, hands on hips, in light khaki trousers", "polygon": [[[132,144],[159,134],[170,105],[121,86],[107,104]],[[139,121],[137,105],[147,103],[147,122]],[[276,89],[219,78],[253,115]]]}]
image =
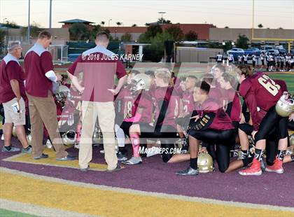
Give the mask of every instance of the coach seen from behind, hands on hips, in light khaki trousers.
[{"label": "coach seen from behind, hands on hips, in light khaki trousers", "polygon": [[[82,133],[78,160],[80,170],[87,171],[92,160],[92,136],[94,126],[99,120],[99,127],[103,134],[105,160],[108,172],[120,167],[116,156],[116,140],[114,136],[115,111],[113,95],[118,94],[123,87],[127,73],[123,63],[116,55],[107,50],[109,35],[99,32],[96,36],[96,47],[86,50],[76,59],[68,70],[72,84],[82,92]],[[78,81],[78,73],[83,73],[83,86]],[[118,85],[114,88],[114,76],[118,78]]]}]

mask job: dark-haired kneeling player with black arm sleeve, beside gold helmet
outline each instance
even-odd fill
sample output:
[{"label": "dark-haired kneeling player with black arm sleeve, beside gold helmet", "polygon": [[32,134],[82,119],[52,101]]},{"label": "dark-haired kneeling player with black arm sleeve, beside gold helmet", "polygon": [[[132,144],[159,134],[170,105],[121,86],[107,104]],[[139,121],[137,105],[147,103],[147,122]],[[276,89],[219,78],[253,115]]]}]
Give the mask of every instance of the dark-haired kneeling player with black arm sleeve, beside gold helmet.
[{"label": "dark-haired kneeling player with black arm sleeve, beside gold helmet", "polygon": [[216,144],[216,161],[218,169],[226,172],[230,165],[230,146],[235,142],[232,120],[214,99],[209,98],[210,86],[202,81],[200,88],[195,87],[194,99],[197,102],[196,111],[198,119],[195,125],[190,126],[190,166],[177,175],[195,176],[199,174],[197,169],[197,157],[199,141]]}]

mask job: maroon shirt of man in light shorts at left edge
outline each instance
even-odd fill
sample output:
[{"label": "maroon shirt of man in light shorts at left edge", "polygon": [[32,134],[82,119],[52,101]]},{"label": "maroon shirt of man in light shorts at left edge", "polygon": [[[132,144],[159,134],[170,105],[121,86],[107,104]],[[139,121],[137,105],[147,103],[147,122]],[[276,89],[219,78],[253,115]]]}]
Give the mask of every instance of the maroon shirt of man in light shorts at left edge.
[{"label": "maroon shirt of man in light shorts at left edge", "polygon": [[9,102],[15,98],[15,94],[10,85],[10,80],[18,80],[20,95],[26,100],[25,95],[25,73],[13,55],[6,55],[0,63],[0,103]]}]

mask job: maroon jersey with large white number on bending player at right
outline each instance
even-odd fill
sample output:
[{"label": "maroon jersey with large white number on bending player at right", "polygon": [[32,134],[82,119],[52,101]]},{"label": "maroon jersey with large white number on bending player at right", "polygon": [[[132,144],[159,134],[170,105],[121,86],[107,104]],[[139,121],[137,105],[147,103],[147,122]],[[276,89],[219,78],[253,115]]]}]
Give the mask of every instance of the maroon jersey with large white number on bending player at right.
[{"label": "maroon jersey with large white number on bending player at right", "polygon": [[241,83],[239,93],[244,97],[251,114],[254,130],[257,131],[261,122],[258,110],[269,111],[280,99],[283,91],[281,86],[265,73],[256,73]]}]

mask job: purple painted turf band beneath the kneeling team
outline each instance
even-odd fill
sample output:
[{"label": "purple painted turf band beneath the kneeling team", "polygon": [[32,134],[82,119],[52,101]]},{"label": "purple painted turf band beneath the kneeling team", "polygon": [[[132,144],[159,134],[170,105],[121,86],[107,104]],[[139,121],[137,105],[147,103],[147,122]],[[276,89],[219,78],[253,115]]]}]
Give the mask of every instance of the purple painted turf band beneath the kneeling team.
[{"label": "purple painted turf band beneath the kneeling team", "polygon": [[[3,141],[0,144],[2,147]],[[13,140],[13,144],[20,146],[15,140]],[[68,151],[71,154],[78,155],[78,152],[73,148],[69,148]],[[132,151],[129,151],[129,153],[132,153]],[[144,163],[142,165],[127,166],[123,171],[116,173],[95,171],[85,173],[71,168],[2,161],[12,155],[11,153],[1,153],[1,167],[59,179],[147,192],[294,207],[293,162],[284,165],[284,174],[265,172],[262,176],[240,176],[237,172],[230,174],[213,172],[195,177],[183,177],[176,176],[174,173],[185,169],[188,162],[167,164],[162,162],[159,155],[143,158]],[[104,155],[99,153],[98,148],[94,148],[93,156],[95,156],[93,162],[105,163]]]}]

